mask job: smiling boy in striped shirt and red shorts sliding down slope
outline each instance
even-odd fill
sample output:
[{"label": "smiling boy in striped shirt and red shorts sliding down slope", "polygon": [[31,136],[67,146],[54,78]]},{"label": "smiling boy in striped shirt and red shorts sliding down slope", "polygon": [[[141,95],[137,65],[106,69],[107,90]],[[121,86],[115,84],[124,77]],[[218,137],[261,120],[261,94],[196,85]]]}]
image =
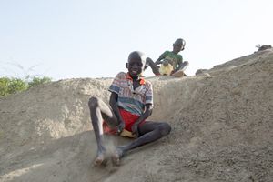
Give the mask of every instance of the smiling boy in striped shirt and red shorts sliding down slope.
[{"label": "smiling boy in striped shirt and red shorts sliding down slope", "polygon": [[125,146],[116,147],[112,159],[119,165],[120,158],[127,151],[167,136],[171,130],[167,123],[146,121],[153,110],[153,89],[149,81],[140,77],[145,60],[144,55],[137,51],[128,56],[128,72],[118,73],[109,87],[110,106],[96,96],[89,99],[88,106],[97,143],[96,165],[103,164],[107,159],[104,133],[136,138]]}]

